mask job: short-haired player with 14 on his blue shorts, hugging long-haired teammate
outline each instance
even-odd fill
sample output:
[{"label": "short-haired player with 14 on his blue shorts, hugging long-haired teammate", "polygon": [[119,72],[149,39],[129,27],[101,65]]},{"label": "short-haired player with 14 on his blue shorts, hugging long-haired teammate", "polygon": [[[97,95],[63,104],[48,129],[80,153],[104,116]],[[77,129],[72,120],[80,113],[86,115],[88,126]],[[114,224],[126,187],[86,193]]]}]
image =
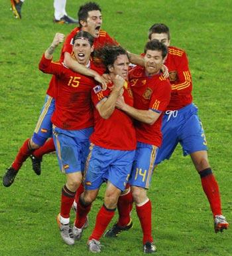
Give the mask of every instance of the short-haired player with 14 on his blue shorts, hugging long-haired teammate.
[{"label": "short-haired player with 14 on his blue shorts, hugging long-haired teammate", "polygon": [[[168,48],[157,40],[146,43],[145,67],[137,66],[129,72],[134,107],[125,104],[122,97],[116,103],[117,108],[137,120],[137,149],[129,184],[143,229],[144,253],[156,251],[152,238],[152,208],[146,191],[150,186],[156,151],[162,142],[162,116],[170,100],[170,82],[160,73],[167,53]],[[107,231],[105,236],[110,237],[112,232]]]}]

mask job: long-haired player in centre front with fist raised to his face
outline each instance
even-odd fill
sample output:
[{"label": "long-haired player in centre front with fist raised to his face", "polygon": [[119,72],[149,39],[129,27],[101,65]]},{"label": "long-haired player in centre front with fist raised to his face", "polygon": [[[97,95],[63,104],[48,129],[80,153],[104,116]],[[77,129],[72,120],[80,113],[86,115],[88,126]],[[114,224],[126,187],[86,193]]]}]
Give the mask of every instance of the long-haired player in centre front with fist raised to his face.
[{"label": "long-haired player in centre front with fist raised to his face", "polygon": [[136,148],[132,118],[115,108],[116,100],[121,95],[129,106],[133,106],[131,87],[125,82],[129,68],[127,52],[122,47],[105,46],[99,50],[99,56],[113,83],[109,83],[105,91],[97,87],[92,90],[94,132],[90,137],[90,152],[86,162],[85,191],[79,197],[73,229],[75,239],[80,239],[91,203],[97,197],[101,184],[107,180],[104,203],[87,241],[89,251],[93,253],[101,251],[99,239],[113,218],[117,199],[125,189]]}]

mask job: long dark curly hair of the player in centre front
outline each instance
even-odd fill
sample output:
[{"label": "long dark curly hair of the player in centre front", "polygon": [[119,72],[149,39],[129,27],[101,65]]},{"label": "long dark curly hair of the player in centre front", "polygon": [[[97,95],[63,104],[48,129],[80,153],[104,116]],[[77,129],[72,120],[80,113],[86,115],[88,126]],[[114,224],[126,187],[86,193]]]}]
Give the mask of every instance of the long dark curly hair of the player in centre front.
[{"label": "long dark curly hair of the player in centre front", "polygon": [[108,66],[113,65],[119,55],[127,55],[128,57],[127,51],[118,45],[104,45],[94,51],[94,57],[101,60],[107,73],[109,73]]}]

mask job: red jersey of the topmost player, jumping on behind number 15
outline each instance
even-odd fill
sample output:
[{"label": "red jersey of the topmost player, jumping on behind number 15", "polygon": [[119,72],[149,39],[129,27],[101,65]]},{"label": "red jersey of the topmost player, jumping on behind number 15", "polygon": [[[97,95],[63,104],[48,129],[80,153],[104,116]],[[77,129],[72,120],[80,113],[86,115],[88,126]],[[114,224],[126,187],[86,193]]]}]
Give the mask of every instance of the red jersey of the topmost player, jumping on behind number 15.
[{"label": "red jersey of the topmost player, jumping on behind number 15", "polygon": [[[60,63],[62,61],[64,61],[64,53],[70,53],[72,54],[72,47],[73,47],[73,39],[76,35],[76,33],[78,33],[80,31],[80,27],[76,27],[75,29],[73,29],[71,31],[71,33],[68,35],[68,37],[66,37],[66,40],[64,42],[64,45],[62,47],[62,51],[61,51],[61,55],[60,55]],[[105,45],[106,43],[109,44],[117,44],[116,41],[114,41],[113,39],[111,39],[111,37],[109,37],[109,35],[103,31],[100,30],[100,35],[99,37],[95,38],[93,41],[93,47],[97,48],[100,47],[101,45]],[[56,79],[54,76],[52,76],[52,79],[50,80],[50,84],[48,87],[48,90],[46,92],[46,94],[48,94],[51,97],[55,97],[55,84],[56,84]]]}]

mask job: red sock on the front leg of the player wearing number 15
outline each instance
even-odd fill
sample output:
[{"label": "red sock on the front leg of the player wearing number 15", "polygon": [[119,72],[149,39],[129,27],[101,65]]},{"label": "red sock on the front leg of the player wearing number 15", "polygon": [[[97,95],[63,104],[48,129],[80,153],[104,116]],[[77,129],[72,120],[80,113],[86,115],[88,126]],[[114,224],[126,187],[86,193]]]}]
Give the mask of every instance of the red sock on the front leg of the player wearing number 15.
[{"label": "red sock on the front leg of the player wearing number 15", "polygon": [[60,215],[64,218],[70,217],[70,209],[72,207],[72,203],[74,202],[76,192],[72,192],[68,190],[66,185],[62,188],[61,195],[61,205],[60,205]]}]

